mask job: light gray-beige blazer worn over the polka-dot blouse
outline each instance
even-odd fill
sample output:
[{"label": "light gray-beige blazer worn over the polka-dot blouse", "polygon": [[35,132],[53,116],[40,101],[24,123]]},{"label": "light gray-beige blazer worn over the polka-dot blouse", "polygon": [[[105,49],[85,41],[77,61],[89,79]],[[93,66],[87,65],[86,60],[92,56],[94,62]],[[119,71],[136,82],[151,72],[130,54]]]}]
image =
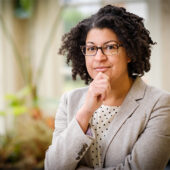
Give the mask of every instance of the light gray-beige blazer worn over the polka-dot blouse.
[{"label": "light gray-beige blazer worn over the polka-dot blouse", "polygon": [[[62,96],[55,118],[46,170],[92,170],[89,147],[95,136],[83,133],[75,115],[88,87]],[[105,170],[163,170],[170,159],[170,94],[137,78],[110,124],[103,144]]]}]

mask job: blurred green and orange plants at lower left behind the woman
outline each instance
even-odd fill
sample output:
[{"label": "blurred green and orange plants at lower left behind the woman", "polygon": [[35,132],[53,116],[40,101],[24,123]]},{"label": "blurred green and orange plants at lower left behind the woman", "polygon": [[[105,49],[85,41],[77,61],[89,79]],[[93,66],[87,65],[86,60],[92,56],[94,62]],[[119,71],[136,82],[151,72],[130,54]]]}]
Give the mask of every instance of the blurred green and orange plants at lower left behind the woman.
[{"label": "blurred green and orange plants at lower left behind the woman", "polygon": [[[43,116],[38,107],[30,107],[30,87],[6,95],[7,109],[1,116],[14,116],[13,128],[0,136],[0,169],[42,169],[45,151],[51,143],[54,118]],[[35,105],[36,106],[36,105]]]}]

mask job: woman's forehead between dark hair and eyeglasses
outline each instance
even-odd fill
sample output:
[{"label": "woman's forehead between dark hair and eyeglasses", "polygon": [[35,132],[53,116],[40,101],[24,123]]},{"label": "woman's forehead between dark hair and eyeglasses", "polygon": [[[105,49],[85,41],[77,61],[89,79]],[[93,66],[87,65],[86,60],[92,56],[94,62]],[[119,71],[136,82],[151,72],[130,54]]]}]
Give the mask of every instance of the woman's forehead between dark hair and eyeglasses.
[{"label": "woman's forehead between dark hair and eyeglasses", "polygon": [[118,41],[117,35],[109,28],[92,28],[86,37],[86,44],[94,43],[97,45],[104,44],[108,41]]}]

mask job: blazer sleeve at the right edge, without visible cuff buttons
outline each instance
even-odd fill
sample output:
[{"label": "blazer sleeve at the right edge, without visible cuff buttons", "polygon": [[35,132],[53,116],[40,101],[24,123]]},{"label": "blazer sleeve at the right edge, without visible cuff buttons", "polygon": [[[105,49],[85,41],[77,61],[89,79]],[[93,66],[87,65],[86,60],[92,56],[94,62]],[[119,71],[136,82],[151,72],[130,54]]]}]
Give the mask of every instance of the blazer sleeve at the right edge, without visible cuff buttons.
[{"label": "blazer sleeve at the right edge, without visible cuff buttons", "polygon": [[163,170],[169,159],[170,95],[168,94],[158,99],[145,130],[124,162],[116,167],[97,168],[96,170]]}]

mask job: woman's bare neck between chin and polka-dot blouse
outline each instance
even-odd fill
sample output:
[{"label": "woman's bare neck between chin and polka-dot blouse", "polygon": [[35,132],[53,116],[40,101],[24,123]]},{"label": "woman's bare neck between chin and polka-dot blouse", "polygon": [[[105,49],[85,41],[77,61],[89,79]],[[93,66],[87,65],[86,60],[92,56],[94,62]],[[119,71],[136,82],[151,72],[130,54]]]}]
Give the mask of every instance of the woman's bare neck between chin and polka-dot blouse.
[{"label": "woman's bare neck between chin and polka-dot blouse", "polygon": [[123,80],[111,82],[111,90],[103,104],[120,106],[133,84],[133,79],[128,76]]}]

